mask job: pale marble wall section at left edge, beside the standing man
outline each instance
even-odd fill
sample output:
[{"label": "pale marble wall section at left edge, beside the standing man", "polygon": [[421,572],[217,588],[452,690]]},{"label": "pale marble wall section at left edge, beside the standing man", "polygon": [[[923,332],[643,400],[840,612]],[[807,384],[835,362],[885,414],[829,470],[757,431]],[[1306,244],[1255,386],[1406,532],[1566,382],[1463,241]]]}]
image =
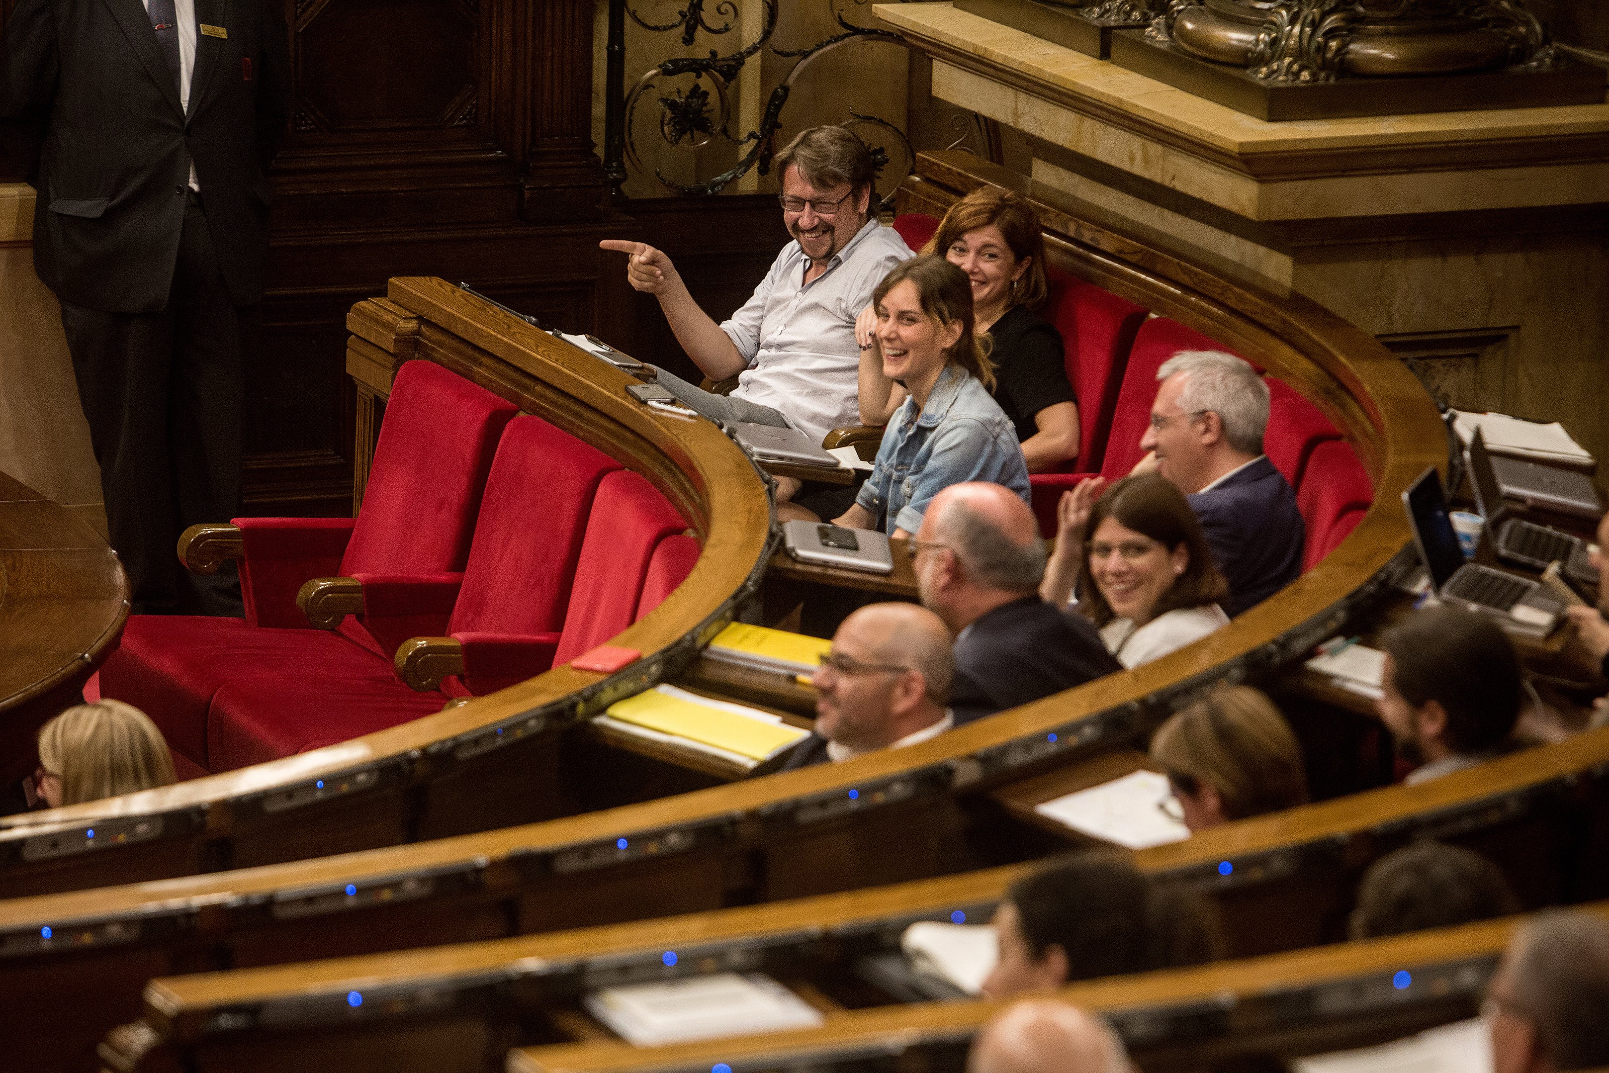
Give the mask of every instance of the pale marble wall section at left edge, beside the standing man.
[{"label": "pale marble wall section at left edge, beside the standing man", "polygon": [[0,470],[101,536],[100,468],[56,296],[34,275],[34,190],[0,183]]}]

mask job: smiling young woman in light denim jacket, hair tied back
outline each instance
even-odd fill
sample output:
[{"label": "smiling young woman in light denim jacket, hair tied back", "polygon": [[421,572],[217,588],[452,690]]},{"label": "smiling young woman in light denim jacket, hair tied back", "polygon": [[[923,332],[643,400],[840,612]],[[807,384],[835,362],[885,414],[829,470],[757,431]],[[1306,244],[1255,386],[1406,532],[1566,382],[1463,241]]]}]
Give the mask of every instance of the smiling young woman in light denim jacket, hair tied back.
[{"label": "smiling young woman in light denim jacket, hair tied back", "polygon": [[909,397],[883,433],[872,476],[835,523],[907,537],[928,502],[961,481],[993,481],[1028,499],[1017,430],[990,396],[988,343],[973,335],[972,282],[943,257],[904,261],[877,286],[883,373]]}]

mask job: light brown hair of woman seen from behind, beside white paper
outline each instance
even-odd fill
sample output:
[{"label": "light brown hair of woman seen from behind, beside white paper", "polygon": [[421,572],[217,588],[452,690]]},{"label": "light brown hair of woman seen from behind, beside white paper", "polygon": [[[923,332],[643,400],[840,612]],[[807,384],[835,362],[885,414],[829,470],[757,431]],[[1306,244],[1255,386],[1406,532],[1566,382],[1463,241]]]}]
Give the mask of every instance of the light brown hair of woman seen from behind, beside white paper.
[{"label": "light brown hair of woman seen from behind, beside white paper", "polygon": [[1178,711],[1150,742],[1150,758],[1186,791],[1207,783],[1226,819],[1307,804],[1302,745],[1274,703],[1250,685],[1220,685]]}]

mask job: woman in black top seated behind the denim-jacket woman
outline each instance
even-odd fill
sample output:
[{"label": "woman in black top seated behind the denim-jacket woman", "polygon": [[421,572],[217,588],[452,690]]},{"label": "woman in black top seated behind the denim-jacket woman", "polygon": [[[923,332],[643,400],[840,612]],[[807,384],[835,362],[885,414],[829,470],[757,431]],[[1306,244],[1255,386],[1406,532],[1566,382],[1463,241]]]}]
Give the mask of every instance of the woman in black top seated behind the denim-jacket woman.
[{"label": "woman in black top seated behind the denim-jacket woman", "polygon": [[[1067,380],[1062,335],[1031,310],[1044,302],[1044,238],[1033,206],[983,187],[951,206],[922,253],[941,254],[972,280],[977,327],[993,336],[994,401],[1006,410],[1030,473],[1047,473],[1078,455],[1078,405]],[[883,376],[872,327],[856,322],[861,343],[861,421],[887,425],[904,388]]]}]

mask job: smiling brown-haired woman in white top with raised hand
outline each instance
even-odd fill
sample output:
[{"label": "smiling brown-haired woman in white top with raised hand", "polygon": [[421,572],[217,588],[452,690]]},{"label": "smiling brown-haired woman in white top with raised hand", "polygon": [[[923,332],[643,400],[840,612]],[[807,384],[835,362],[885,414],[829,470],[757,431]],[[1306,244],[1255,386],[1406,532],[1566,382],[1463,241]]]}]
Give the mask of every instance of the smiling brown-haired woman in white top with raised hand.
[{"label": "smiling brown-haired woman in white top with raised hand", "polygon": [[[1089,505],[1094,481],[1062,499],[1056,550],[1039,595],[1064,605],[1078,579],[1078,610],[1125,668],[1162,658],[1226,626],[1218,573],[1195,512],[1167,478],[1112,483]],[[1088,534],[1088,539],[1086,536]]]}]

